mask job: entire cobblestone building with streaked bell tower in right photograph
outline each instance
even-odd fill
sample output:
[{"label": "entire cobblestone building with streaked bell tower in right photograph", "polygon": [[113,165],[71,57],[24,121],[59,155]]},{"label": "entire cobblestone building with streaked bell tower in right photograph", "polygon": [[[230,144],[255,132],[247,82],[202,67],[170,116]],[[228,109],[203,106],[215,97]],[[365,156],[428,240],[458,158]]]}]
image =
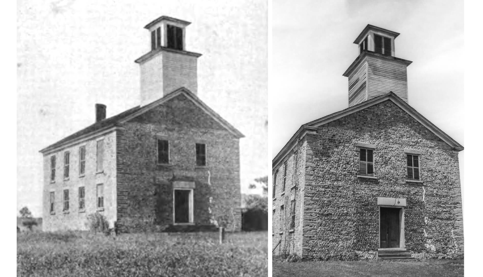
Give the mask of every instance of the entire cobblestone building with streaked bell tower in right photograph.
[{"label": "entire cobblestone building with streaked bell tower in right photograph", "polygon": [[302,125],[272,160],[275,255],[463,255],[463,146],[408,104],[398,35],[368,25],[343,74],[349,107]]}]

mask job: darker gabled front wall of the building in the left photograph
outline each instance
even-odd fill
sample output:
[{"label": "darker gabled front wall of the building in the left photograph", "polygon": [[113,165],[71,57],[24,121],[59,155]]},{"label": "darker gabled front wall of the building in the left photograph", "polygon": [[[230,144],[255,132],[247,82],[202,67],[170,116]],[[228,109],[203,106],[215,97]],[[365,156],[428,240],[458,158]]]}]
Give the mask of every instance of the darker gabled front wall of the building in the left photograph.
[{"label": "darker gabled front wall of the building in the left photograph", "polygon": [[[173,222],[173,184],[194,182],[193,224],[214,220],[241,229],[239,139],[180,95],[136,117],[117,133],[121,232],[163,230]],[[157,139],[169,141],[169,164],[157,164]],[[206,144],[206,166],[196,165]]]}]

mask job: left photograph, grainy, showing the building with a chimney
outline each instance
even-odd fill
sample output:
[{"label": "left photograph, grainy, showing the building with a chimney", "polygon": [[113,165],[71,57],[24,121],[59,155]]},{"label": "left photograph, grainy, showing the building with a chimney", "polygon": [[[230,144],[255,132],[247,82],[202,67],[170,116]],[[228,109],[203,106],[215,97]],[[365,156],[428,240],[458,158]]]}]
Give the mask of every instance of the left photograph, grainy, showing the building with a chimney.
[{"label": "left photograph, grainy, showing the building with a chimney", "polygon": [[268,2],[17,1],[17,276],[268,276]]}]

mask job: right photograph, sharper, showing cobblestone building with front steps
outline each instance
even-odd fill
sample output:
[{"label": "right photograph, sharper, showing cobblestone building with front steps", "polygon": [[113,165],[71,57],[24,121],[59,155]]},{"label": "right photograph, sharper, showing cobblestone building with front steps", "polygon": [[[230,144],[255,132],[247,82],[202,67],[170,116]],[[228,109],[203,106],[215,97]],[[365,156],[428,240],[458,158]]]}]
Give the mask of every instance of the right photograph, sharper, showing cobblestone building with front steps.
[{"label": "right photograph, sharper, showing cobblestone building with front steps", "polygon": [[271,14],[272,276],[463,276],[463,1]]}]

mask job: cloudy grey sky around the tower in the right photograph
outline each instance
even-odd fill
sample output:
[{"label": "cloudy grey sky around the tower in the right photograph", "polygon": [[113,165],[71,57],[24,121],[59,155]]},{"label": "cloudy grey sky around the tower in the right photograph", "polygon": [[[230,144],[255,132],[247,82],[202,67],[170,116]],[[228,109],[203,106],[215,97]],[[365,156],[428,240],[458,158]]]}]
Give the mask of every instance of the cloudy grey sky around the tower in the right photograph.
[{"label": "cloudy grey sky around the tower in the right photograph", "polygon": [[[409,104],[464,144],[464,9],[461,0],[277,0],[272,5],[271,158],[298,128],[348,107],[342,73],[367,24],[400,33]],[[464,178],[464,150],[459,153]]]}]

